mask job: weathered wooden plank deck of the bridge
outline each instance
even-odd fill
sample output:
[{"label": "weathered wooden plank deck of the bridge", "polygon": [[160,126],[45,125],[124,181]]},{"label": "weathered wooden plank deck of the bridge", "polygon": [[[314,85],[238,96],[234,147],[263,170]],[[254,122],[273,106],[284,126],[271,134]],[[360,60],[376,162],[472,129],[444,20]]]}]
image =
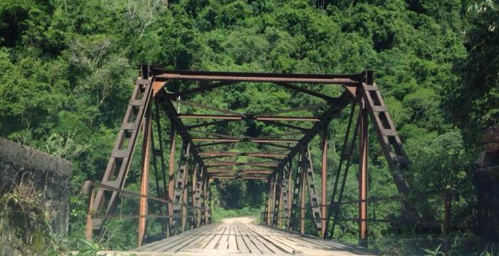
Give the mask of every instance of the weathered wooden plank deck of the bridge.
[{"label": "weathered wooden plank deck of the bridge", "polygon": [[206,225],[133,251],[139,255],[374,255],[363,247],[244,222]]}]

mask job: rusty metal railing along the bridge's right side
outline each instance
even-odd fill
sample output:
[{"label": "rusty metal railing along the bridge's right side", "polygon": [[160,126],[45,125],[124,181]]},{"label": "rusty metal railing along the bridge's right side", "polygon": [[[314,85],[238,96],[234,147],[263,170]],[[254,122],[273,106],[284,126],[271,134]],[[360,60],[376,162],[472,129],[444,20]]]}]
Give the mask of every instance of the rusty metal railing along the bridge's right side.
[{"label": "rusty metal railing along the bridge's right side", "polygon": [[[392,195],[388,197],[378,197],[378,198],[369,198],[367,200],[367,203],[381,203],[381,202],[386,202],[386,203],[393,203],[393,202],[400,202],[403,203],[405,200],[408,198],[421,198],[421,197],[431,197],[434,195],[443,195],[443,220],[416,220],[411,222],[411,224],[416,225],[419,228],[423,228],[426,230],[435,230],[436,228],[441,228],[441,234],[447,237],[450,235],[451,230],[453,230],[453,225],[452,225],[452,201],[454,198],[457,198],[458,192],[456,189],[453,188],[448,188],[448,189],[443,189],[443,190],[431,190],[427,191],[424,193],[418,193],[417,195]],[[361,221],[366,221],[366,222],[384,222],[384,223],[389,223],[393,225],[403,225],[404,223],[407,223],[408,220],[400,220],[397,218],[367,218],[366,220],[362,220],[359,217],[339,217],[339,213],[341,213],[341,205],[356,205],[361,203],[360,200],[344,200],[341,203],[333,203],[331,204],[325,204],[325,205],[314,205],[314,208],[321,208],[321,207],[326,207],[329,209],[329,214],[326,217],[314,217],[312,216],[301,216],[299,214],[299,211],[304,209],[310,209],[312,208],[311,205],[307,205],[306,207],[297,207],[296,208],[296,213],[297,215],[294,217],[294,220],[299,220],[299,222],[296,222],[294,227],[289,226],[289,220],[291,217],[289,217],[289,213],[291,212],[291,209],[275,209],[275,210],[264,210],[261,213],[262,217],[262,225],[269,225],[277,228],[285,228],[286,230],[304,230],[301,229],[300,227],[304,225],[305,220],[312,220],[314,222],[321,222],[321,220],[326,220],[326,222],[333,222],[333,226],[329,226],[330,231],[326,230],[326,234],[322,234],[323,237],[329,237],[332,238],[334,237],[334,227],[338,222],[361,222]],[[288,212],[288,214],[286,214]],[[276,215],[277,216],[274,216]],[[277,220],[277,221],[276,221]],[[283,221],[284,220],[284,221]],[[329,234],[329,236],[328,236]],[[445,247],[446,241],[444,241]],[[445,249],[444,247],[444,249]]]}]

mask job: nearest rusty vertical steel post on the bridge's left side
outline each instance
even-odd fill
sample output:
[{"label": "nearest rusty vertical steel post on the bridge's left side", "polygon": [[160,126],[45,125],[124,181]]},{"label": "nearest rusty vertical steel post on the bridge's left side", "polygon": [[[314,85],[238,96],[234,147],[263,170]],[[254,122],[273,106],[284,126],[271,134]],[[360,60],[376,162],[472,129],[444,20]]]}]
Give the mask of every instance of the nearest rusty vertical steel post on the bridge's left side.
[{"label": "nearest rusty vertical steel post on the bridge's left side", "polygon": [[[150,145],[150,108],[148,108],[145,113],[145,121],[143,123],[143,143],[142,143],[142,174],[140,176],[140,195],[148,195],[149,188],[149,145]],[[148,200],[147,198],[140,198],[139,203],[139,219],[138,219],[138,237],[137,243],[138,246],[141,246],[143,243],[144,235],[145,235],[145,215],[148,214]]]}]

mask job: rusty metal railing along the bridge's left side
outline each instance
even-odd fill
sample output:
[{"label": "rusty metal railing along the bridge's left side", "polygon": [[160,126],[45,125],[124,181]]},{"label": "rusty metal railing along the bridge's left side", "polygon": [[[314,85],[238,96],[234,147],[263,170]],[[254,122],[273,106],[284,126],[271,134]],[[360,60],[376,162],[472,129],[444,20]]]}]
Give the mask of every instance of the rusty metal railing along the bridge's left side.
[{"label": "rusty metal railing along the bridge's left side", "polygon": [[[107,190],[107,191],[113,191],[116,193],[120,193],[121,195],[125,196],[130,196],[132,198],[145,198],[146,200],[152,200],[160,204],[160,208],[165,208],[165,213],[164,215],[158,215],[158,214],[147,214],[147,215],[130,215],[130,214],[106,214],[106,213],[97,213],[96,212],[96,205],[95,205],[95,198],[96,198],[96,192],[98,190]],[[207,225],[210,223],[211,220],[211,209],[210,207],[204,208],[204,207],[198,207],[198,206],[193,206],[193,205],[188,205],[186,203],[175,203],[172,200],[165,199],[165,198],[158,198],[153,195],[143,195],[140,193],[136,193],[133,191],[129,190],[123,190],[119,188],[115,188],[110,185],[98,183],[95,181],[87,180],[86,183],[83,184],[83,191],[84,194],[88,195],[88,213],[86,216],[86,239],[91,240],[92,235],[93,235],[93,230],[94,230],[94,220],[107,220],[107,219],[113,219],[113,218],[119,218],[119,219],[140,219],[140,218],[155,218],[155,219],[167,219],[168,221],[162,223],[162,228],[164,227],[163,225],[166,225],[166,234],[167,236],[170,235],[176,235],[175,230],[171,230],[172,227],[172,221],[175,219],[183,219],[191,220],[192,227],[196,227],[197,225]],[[168,213],[173,213],[173,208],[175,206],[180,206],[180,213],[181,215],[169,215]],[[168,210],[168,209],[172,210]],[[188,211],[186,210],[191,210],[192,215],[189,214],[184,214],[187,213]],[[183,223],[185,224],[185,223]],[[183,230],[182,230],[183,232]]]}]

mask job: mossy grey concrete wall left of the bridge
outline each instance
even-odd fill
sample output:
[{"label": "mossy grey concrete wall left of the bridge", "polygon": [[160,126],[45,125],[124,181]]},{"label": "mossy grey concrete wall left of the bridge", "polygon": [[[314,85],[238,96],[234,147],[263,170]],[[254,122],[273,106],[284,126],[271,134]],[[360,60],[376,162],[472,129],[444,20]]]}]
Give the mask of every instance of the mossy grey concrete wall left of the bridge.
[{"label": "mossy grey concrete wall left of the bridge", "polygon": [[33,183],[43,193],[46,215],[58,235],[68,232],[71,163],[0,138],[0,194],[16,183]]}]

